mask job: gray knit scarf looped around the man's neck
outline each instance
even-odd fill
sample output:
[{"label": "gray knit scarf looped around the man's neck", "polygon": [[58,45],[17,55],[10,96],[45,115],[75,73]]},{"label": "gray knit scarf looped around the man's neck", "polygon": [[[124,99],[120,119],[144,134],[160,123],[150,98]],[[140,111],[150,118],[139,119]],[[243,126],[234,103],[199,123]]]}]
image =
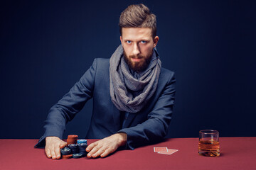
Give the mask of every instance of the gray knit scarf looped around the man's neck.
[{"label": "gray knit scarf looped around the man's neck", "polygon": [[110,96],[119,111],[137,113],[156,91],[161,71],[159,57],[152,57],[149,67],[139,79],[132,76],[119,45],[110,57]]}]

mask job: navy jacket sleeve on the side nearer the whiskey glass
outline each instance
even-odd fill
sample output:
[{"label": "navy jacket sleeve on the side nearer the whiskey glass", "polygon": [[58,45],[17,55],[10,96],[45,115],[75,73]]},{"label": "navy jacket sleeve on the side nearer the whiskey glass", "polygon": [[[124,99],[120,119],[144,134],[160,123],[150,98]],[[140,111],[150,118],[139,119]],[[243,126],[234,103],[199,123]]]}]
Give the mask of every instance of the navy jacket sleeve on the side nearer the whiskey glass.
[{"label": "navy jacket sleeve on the side nearer the whiskey glass", "polygon": [[127,148],[134,149],[159,142],[167,135],[174,108],[175,82],[173,73],[144,123],[118,131],[127,134]]}]

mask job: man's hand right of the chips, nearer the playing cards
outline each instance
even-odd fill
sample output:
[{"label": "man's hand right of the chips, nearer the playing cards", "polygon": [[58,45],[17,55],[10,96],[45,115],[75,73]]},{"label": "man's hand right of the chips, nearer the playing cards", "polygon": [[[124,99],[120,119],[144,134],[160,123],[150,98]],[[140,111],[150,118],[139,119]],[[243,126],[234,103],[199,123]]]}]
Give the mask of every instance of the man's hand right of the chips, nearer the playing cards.
[{"label": "man's hand right of the chips, nearer the playing cards", "polygon": [[123,132],[116,133],[110,137],[105,137],[102,140],[98,140],[97,142],[90,144],[86,148],[86,151],[89,152],[87,157],[107,157],[107,155],[116,151],[118,147],[126,145],[126,143],[127,134]]}]

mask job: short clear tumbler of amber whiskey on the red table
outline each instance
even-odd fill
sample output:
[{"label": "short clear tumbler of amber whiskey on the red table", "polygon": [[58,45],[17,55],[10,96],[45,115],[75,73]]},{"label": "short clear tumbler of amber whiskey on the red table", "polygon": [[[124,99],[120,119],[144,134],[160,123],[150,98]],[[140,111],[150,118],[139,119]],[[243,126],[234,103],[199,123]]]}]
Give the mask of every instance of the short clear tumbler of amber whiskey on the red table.
[{"label": "short clear tumbler of amber whiskey on the red table", "polygon": [[198,153],[206,157],[220,156],[219,132],[217,130],[200,130]]}]

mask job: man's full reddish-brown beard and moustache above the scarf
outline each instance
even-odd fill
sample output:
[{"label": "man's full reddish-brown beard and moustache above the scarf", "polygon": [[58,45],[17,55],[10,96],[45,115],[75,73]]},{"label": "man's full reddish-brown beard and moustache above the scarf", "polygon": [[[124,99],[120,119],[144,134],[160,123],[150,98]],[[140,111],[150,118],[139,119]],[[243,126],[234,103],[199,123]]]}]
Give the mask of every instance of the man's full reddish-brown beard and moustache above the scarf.
[{"label": "man's full reddish-brown beard and moustache above the scarf", "polygon": [[[153,55],[153,50],[149,55],[129,55],[124,51],[124,61],[128,64],[129,68],[132,69],[134,72],[143,72],[147,67],[149,67],[149,63],[151,62]],[[132,58],[141,59],[139,62],[132,62]]]}]

